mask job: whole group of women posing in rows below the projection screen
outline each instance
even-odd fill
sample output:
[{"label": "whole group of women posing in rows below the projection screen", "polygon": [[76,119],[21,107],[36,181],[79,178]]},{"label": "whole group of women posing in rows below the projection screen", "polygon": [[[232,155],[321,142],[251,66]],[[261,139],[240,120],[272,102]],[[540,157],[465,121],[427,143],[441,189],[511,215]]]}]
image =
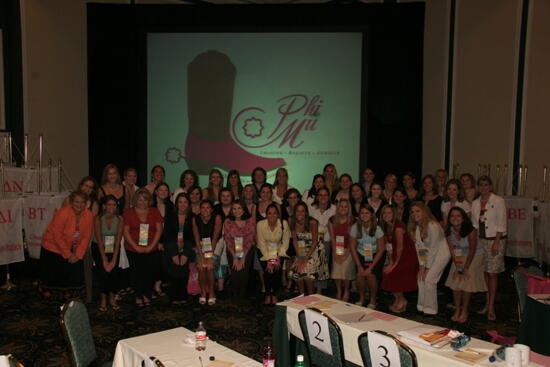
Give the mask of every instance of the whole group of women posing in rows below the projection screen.
[{"label": "whole group of women posing in rows below the projection screen", "polygon": [[129,169],[122,181],[110,164],[100,184],[91,177],[81,181],[44,234],[44,289],[60,280],[65,288],[81,284],[91,243],[101,311],[118,309],[119,289],[132,288],[136,305],[148,306],[164,295],[162,280],[173,304],[186,303],[190,274],[198,274],[200,304],[215,304],[226,286],[243,299],[256,271],[265,304],[278,302],[283,286],[320,293],[332,279],[338,299],[349,301],[355,288],[357,303],[370,308],[377,307],[379,288],[391,292],[395,313],[406,310],[405,293],[417,291],[417,309],[430,315],[438,312],[437,284],[450,263],[445,285],[453,291],[452,319],[468,319],[475,292],[487,292],[481,312],[496,317],[506,209],[487,176],[476,188],[470,174],[449,180],[438,170],[418,190],[410,172],[401,186],[394,174],[377,181],[372,169],[354,183],[327,164],[303,194],[289,185],[284,168],[273,185],[261,167],[248,185],[234,170],[224,182],[217,169],[202,189],[192,170],[181,174],[173,192],[161,166],[145,187],[136,179]]}]

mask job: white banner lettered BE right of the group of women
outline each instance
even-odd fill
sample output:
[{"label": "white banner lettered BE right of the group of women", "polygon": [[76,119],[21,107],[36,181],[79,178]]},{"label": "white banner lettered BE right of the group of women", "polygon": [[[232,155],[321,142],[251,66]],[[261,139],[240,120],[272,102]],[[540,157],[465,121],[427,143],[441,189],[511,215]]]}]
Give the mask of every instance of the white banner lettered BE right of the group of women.
[{"label": "white banner lettered BE right of the group of women", "polygon": [[535,257],[533,199],[506,197],[508,215],[508,240],[506,256]]}]

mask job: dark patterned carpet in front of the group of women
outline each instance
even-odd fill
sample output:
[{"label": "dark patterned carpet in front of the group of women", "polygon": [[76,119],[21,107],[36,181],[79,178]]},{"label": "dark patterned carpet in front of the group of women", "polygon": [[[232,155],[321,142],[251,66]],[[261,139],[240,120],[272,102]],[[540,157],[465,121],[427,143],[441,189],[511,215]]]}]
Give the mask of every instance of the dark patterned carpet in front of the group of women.
[{"label": "dark patterned carpet in front of the group of women", "polygon": [[[512,266],[508,266],[512,269]],[[19,272],[21,273],[21,272]],[[29,277],[22,272],[15,277],[17,288],[0,291],[0,354],[11,353],[25,366],[68,366],[65,342],[59,326],[61,303],[44,301]],[[408,311],[401,316],[433,325],[452,326],[466,334],[488,340],[486,332],[496,330],[504,336],[517,335],[516,296],[510,274],[500,277],[497,296],[497,321],[487,321],[474,311],[484,302],[481,294],[472,297],[470,321],[453,325],[450,293],[442,289],[440,312],[435,317],[419,315],[415,310],[415,295],[407,295]],[[332,290],[327,295],[334,295]],[[290,295],[289,295],[290,296]],[[381,311],[387,311],[391,295],[380,295]],[[271,339],[274,309],[261,304],[261,297],[234,302],[221,299],[215,306],[200,306],[194,299],[190,305],[172,306],[167,297],[155,300],[151,307],[138,309],[132,298],[121,301],[119,311],[99,312],[98,303],[88,305],[96,348],[101,361],[111,360],[120,339],[162,331],[178,326],[194,329],[204,321],[211,338],[251,358],[260,360],[262,345]],[[354,299],[352,299],[353,301]]]}]

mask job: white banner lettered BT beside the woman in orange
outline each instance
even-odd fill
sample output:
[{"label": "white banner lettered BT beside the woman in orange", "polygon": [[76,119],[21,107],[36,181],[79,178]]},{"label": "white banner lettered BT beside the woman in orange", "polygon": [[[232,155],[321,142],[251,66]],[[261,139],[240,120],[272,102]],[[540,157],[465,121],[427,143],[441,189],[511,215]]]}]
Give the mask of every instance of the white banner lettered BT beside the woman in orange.
[{"label": "white banner lettered BT beside the woman in orange", "polygon": [[40,258],[42,235],[66,196],[66,194],[55,196],[36,195],[24,198],[23,228],[25,229],[29,257],[32,259]]}]

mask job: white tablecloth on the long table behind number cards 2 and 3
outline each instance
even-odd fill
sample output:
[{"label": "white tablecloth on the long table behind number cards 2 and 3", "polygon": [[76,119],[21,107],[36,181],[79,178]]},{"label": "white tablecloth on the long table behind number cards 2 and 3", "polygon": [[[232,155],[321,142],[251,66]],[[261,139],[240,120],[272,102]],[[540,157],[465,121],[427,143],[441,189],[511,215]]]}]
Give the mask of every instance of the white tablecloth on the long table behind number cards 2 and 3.
[{"label": "white tablecloth on the long table behind number cards 2 and 3", "polygon": [[[422,323],[412,321],[412,320],[407,320],[401,317],[396,317],[392,321],[380,320],[376,317],[373,317],[373,314],[375,315],[382,314],[379,311],[371,310],[371,309],[356,306],[356,305],[351,305],[342,301],[338,301],[338,300],[317,295],[317,294],[314,296],[316,298],[319,298],[320,301],[336,302],[336,304],[332,305],[329,309],[322,309],[321,311],[324,311],[327,315],[329,315],[334,321],[336,321],[336,323],[340,327],[342,331],[342,338],[344,339],[343,344],[344,344],[344,354],[345,354],[346,360],[359,366],[363,365],[363,361],[361,359],[361,352],[359,351],[357,340],[359,335],[361,335],[362,333],[369,330],[383,330],[397,337],[398,332],[400,331],[411,329],[416,326],[424,325]],[[305,309],[307,306],[313,306],[313,303],[309,305],[302,305],[299,303],[295,303],[292,300],[287,300],[285,302],[278,303],[278,305],[286,306],[286,309],[287,309],[286,319],[288,324],[288,331],[292,335],[300,338],[301,340],[304,340],[302,331],[300,329],[300,324],[298,322],[298,313],[303,309]],[[359,311],[367,314],[367,316],[365,317],[367,321],[346,324],[334,317],[334,315],[342,315],[345,313],[357,313]],[[391,317],[391,315],[387,315],[387,314],[383,314],[383,315]],[[438,329],[440,327],[434,326],[434,328]],[[483,359],[477,364],[474,364],[474,363],[456,358],[454,355],[457,354],[457,352],[453,351],[450,345],[447,345],[439,350],[429,350],[428,348],[425,348],[425,347],[413,345],[407,340],[402,340],[402,341],[415,352],[418,365],[422,367],[423,366],[445,366],[445,367],[506,366],[506,363],[502,361],[490,363],[488,359]],[[493,351],[498,347],[499,346],[496,344],[489,343],[489,342],[486,342],[480,339],[475,339],[475,338],[472,338],[470,343],[468,343],[467,345],[467,348],[475,349],[478,352],[486,353],[488,355],[491,355]],[[538,366],[538,365],[531,363],[530,366]]]}]

